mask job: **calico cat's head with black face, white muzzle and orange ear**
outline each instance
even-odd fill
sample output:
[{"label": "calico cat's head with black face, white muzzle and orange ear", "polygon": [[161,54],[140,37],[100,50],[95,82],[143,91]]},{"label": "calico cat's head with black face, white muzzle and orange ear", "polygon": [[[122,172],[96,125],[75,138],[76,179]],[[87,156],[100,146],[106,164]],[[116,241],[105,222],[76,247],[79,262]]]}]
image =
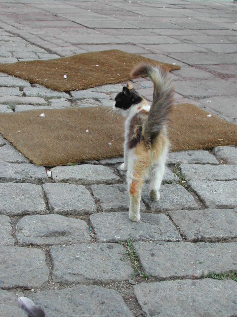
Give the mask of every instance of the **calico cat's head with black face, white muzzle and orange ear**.
[{"label": "calico cat's head with black face, white muzzle and orange ear", "polygon": [[127,116],[132,106],[139,104],[142,97],[135,91],[131,83],[123,87],[122,91],[115,97],[113,109],[116,113]]}]

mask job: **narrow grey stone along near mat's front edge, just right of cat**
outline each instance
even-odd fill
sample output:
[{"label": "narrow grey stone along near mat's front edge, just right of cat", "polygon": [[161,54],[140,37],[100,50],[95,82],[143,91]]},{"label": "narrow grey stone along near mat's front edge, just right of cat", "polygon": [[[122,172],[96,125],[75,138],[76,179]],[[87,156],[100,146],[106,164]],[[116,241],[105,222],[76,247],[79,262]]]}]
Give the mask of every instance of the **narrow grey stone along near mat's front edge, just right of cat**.
[{"label": "narrow grey stone along near mat's front edge, just right of cat", "polygon": [[212,154],[203,150],[170,152],[167,164],[176,163],[219,164],[218,160]]}]

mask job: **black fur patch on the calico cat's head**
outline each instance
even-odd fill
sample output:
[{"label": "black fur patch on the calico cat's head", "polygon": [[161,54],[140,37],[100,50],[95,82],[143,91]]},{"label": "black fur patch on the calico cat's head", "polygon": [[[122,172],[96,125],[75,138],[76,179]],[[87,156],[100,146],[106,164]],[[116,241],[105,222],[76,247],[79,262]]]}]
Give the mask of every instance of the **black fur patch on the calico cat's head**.
[{"label": "black fur patch on the calico cat's head", "polygon": [[115,106],[126,110],[132,105],[137,105],[142,101],[142,97],[134,90],[127,87],[122,88],[122,92],[115,97]]}]

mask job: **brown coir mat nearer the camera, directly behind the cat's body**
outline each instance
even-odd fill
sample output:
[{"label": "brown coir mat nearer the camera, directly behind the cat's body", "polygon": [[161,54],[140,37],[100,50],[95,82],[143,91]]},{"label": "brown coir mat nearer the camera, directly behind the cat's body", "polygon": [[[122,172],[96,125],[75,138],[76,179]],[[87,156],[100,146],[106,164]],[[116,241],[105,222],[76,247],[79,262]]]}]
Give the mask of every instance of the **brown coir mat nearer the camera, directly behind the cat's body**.
[{"label": "brown coir mat nearer the camera, directly behind the cat's body", "polygon": [[[1,113],[0,132],[37,165],[123,155],[123,118],[104,107]],[[190,104],[174,106],[170,116],[171,151],[235,145],[237,126]]]}]

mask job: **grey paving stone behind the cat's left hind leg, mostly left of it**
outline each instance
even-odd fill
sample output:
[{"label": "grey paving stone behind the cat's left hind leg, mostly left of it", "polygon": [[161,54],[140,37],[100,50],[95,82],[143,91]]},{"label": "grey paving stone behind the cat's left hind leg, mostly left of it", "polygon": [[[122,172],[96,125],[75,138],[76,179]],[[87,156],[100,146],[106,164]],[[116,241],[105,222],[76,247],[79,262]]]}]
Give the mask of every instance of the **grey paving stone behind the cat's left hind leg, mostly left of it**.
[{"label": "grey paving stone behind the cat's left hind leg, mostly left of it", "polygon": [[[90,186],[96,200],[100,203],[104,212],[108,211],[128,211],[130,198],[127,186],[118,185],[92,185]],[[144,203],[141,201],[140,211],[146,211]]]}]

